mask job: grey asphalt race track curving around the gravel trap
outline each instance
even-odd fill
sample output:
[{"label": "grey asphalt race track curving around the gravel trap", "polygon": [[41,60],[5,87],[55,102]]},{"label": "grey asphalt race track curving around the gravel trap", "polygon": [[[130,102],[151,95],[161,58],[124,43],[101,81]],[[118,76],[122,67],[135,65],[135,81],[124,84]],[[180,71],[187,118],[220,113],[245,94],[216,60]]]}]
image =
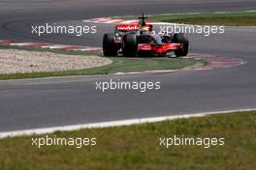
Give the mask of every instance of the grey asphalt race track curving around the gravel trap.
[{"label": "grey asphalt race track curving around the gravel trap", "polygon": [[[156,8],[157,7],[157,8]],[[31,24],[75,23],[123,14],[255,10],[253,0],[82,1],[2,0],[0,40],[101,46],[111,25],[95,36],[31,35]],[[46,128],[113,120],[256,108],[256,28],[227,27],[224,35],[189,35],[190,52],[235,57],[247,64],[213,71],[98,75],[0,81],[0,131]],[[161,81],[159,92],[95,90],[95,81]]]}]

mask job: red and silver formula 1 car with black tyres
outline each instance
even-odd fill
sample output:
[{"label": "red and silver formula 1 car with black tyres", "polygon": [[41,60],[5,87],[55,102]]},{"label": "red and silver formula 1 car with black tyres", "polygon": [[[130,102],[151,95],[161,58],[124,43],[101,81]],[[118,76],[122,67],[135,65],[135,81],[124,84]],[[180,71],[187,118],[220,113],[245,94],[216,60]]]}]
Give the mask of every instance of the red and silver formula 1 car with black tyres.
[{"label": "red and silver formula 1 car with black tyres", "polygon": [[183,33],[156,34],[151,24],[146,24],[144,14],[139,17],[136,25],[116,25],[113,34],[103,37],[103,52],[105,56],[166,56],[175,51],[176,57],[186,56],[188,53],[188,40]]}]

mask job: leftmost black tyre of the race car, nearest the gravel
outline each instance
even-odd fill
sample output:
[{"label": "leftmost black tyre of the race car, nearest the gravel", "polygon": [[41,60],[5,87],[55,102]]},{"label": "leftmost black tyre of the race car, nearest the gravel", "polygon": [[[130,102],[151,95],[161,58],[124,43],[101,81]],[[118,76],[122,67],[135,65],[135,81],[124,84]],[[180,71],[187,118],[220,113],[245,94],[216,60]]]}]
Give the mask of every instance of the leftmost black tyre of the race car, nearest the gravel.
[{"label": "leftmost black tyre of the race car, nearest the gravel", "polygon": [[114,34],[105,34],[103,37],[104,56],[116,56],[118,49],[114,44]]}]

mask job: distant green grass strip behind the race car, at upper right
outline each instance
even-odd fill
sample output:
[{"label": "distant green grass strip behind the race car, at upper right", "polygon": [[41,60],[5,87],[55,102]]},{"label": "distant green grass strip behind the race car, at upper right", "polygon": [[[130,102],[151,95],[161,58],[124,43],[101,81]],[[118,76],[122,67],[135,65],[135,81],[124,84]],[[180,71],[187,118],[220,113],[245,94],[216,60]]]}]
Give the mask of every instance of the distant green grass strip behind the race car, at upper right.
[{"label": "distant green grass strip behind the race car, at upper right", "polygon": [[[137,18],[138,16],[124,16]],[[152,15],[148,20],[199,25],[226,25],[226,26],[256,26],[255,12],[240,12],[226,14],[161,14]]]}]

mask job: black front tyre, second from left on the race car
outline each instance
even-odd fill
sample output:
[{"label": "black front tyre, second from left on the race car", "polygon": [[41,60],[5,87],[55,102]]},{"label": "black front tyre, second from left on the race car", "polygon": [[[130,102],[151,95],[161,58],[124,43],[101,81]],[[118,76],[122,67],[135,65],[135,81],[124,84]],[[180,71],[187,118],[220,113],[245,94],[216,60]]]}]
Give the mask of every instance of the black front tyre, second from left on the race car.
[{"label": "black front tyre, second from left on the race car", "polygon": [[138,51],[137,37],[135,34],[126,34],[123,36],[123,55],[134,57]]}]

